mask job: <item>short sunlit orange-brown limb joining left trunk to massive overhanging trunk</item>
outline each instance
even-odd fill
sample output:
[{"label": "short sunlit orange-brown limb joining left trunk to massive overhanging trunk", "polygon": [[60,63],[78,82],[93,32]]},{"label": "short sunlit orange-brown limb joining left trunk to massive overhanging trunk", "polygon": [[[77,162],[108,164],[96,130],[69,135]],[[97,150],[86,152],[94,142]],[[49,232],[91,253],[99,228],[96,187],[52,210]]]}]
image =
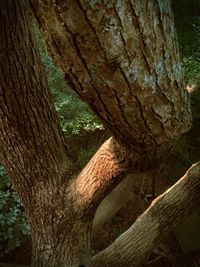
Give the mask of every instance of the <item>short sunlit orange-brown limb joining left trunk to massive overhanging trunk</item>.
[{"label": "short sunlit orange-brown limb joining left trunk to massive overhanging trunk", "polygon": [[[129,171],[130,156],[113,137],[98,149],[72,184],[72,190],[86,209],[96,210],[105,196]],[[84,204],[83,204],[84,203]]]}]

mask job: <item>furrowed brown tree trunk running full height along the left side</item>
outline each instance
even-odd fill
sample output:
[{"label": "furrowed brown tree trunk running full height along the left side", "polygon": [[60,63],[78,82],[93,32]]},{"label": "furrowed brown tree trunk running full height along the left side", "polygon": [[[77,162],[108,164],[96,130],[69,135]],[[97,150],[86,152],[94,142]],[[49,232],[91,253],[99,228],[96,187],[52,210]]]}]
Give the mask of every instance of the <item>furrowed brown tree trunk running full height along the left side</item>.
[{"label": "furrowed brown tree trunk running full height along the left side", "polygon": [[[33,266],[90,266],[90,216],[76,205],[26,0],[0,1],[0,151],[31,225]],[[84,220],[82,220],[85,218]]]}]

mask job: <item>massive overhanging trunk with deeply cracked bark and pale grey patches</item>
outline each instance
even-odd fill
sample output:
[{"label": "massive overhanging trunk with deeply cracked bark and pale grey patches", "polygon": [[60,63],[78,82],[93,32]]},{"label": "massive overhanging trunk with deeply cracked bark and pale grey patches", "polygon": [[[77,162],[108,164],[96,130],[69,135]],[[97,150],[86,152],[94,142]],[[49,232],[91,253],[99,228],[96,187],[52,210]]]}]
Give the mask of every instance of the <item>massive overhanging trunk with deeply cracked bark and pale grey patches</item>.
[{"label": "massive overhanging trunk with deeply cracked bark and pale grey patches", "polygon": [[134,170],[159,162],[190,125],[170,2],[31,2],[49,53]]}]

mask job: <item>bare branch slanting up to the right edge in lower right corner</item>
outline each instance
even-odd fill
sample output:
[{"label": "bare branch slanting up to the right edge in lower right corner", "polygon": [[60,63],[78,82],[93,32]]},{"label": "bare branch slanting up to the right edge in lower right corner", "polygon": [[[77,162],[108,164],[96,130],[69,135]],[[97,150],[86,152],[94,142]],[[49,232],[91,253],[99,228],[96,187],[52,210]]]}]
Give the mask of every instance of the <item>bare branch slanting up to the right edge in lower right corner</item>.
[{"label": "bare branch slanting up to the right edge in lower right corner", "polygon": [[200,204],[200,162],[156,198],[136,222],[94,257],[95,267],[138,266]]}]

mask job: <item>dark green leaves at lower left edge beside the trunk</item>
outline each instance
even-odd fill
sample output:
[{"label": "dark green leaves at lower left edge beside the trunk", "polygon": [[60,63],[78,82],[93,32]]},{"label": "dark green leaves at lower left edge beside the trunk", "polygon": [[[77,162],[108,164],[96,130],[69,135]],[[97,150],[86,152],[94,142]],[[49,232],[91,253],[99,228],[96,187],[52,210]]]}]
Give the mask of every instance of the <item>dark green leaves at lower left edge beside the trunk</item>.
[{"label": "dark green leaves at lower left edge beside the trunk", "polygon": [[0,256],[20,246],[30,233],[19,196],[0,166]]}]

